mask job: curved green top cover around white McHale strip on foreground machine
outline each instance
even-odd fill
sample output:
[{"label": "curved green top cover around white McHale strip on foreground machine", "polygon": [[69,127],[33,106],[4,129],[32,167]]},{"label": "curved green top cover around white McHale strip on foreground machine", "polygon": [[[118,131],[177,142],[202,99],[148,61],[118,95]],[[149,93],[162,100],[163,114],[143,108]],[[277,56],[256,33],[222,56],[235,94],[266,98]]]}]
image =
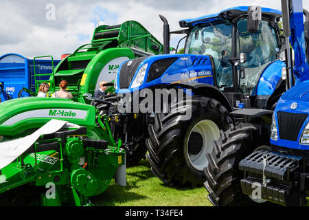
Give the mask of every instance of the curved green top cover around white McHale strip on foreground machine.
[{"label": "curved green top cover around white McHale strip on foreground machine", "polygon": [[[44,110],[46,116],[41,116],[31,113]],[[62,115],[54,117],[49,117],[50,110],[59,109],[71,109],[72,111],[84,111],[87,112],[84,119],[77,119],[73,116],[64,117]],[[29,117],[24,116],[23,120],[19,120],[12,125],[4,125],[8,120],[12,120],[13,117],[17,117],[23,113],[30,114]],[[69,120],[73,124],[78,124],[80,126],[86,126],[89,129],[93,129],[95,126],[95,107],[89,104],[82,104],[79,102],[72,102],[71,100],[65,100],[60,98],[19,98],[14,100],[8,100],[0,104],[0,134],[1,135],[18,135],[22,131],[27,129],[40,128],[52,118],[58,120]]]}]

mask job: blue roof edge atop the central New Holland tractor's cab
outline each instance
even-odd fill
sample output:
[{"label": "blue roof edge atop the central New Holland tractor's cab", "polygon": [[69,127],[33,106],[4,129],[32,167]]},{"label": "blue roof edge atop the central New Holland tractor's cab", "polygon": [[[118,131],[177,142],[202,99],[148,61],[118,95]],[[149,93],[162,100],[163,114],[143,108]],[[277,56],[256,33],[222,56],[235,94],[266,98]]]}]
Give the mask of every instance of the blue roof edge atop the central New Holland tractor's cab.
[{"label": "blue roof edge atop the central New Holland tractor's cab", "polygon": [[[222,10],[221,12],[219,12],[217,14],[209,14],[209,15],[205,15],[205,16],[198,17],[198,18],[195,18],[195,19],[183,19],[180,22],[190,23],[192,26],[195,26],[198,23],[203,23],[205,21],[211,22],[211,21],[214,21],[216,19],[220,19],[219,15],[222,12],[227,12],[229,10],[240,10],[242,12],[247,12],[248,8],[249,8],[249,6],[240,6],[240,7],[235,7],[235,8],[228,8],[228,9]],[[281,17],[281,14],[282,14],[280,11],[274,10],[274,9],[271,9],[271,8],[262,8],[262,13],[271,13],[271,14],[274,14],[276,17]]]}]

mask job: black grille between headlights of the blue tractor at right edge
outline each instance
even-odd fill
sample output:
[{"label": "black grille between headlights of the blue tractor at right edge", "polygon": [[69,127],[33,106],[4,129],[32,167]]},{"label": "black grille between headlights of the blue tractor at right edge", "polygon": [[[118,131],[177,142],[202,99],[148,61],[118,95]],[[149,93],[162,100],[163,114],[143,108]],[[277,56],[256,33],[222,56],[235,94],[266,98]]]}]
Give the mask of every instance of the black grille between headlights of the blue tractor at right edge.
[{"label": "black grille between headlights of the blue tractor at right edge", "polygon": [[279,137],[283,140],[297,141],[299,130],[308,114],[278,111]]}]

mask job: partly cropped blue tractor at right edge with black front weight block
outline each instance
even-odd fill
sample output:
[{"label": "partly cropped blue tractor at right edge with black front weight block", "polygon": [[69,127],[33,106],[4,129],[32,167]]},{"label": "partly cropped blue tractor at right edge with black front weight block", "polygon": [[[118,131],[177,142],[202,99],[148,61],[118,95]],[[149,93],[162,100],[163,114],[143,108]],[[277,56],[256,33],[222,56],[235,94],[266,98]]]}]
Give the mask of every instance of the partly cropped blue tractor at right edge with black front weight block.
[{"label": "partly cropped blue tractor at right edge with black front weight block", "polygon": [[307,204],[309,13],[301,0],[282,0],[282,17],[286,39],[282,78],[288,91],[273,113],[262,109],[233,112],[244,123],[222,131],[207,154],[205,187],[215,206]]}]

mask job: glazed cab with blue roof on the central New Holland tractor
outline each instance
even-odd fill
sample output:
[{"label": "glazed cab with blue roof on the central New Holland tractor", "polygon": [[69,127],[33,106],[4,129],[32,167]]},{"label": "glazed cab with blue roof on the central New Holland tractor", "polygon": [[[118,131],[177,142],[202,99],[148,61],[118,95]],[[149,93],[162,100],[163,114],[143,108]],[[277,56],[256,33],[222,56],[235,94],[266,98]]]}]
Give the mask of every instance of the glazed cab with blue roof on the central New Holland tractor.
[{"label": "glazed cab with blue roof on the central New Holland tractor", "polygon": [[[212,56],[220,90],[253,95],[264,69],[277,60],[282,44],[277,25],[281,12],[261,11],[256,30],[248,30],[248,7],[180,21],[181,27],[189,28],[185,54]],[[241,62],[240,55],[244,58]]]}]

